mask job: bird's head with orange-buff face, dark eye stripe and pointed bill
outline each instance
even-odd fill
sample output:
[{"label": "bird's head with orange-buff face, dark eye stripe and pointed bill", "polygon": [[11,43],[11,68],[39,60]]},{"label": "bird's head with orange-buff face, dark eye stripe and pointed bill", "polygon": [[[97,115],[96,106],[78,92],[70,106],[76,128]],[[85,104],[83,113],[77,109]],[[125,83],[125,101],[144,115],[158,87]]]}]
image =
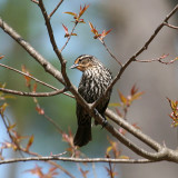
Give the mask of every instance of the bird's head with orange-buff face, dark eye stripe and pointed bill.
[{"label": "bird's head with orange-buff face, dark eye stripe and pointed bill", "polygon": [[100,62],[93,56],[81,55],[75,60],[75,63],[70,67],[70,69],[78,69],[80,71],[85,71],[89,68],[93,68],[98,63]]}]

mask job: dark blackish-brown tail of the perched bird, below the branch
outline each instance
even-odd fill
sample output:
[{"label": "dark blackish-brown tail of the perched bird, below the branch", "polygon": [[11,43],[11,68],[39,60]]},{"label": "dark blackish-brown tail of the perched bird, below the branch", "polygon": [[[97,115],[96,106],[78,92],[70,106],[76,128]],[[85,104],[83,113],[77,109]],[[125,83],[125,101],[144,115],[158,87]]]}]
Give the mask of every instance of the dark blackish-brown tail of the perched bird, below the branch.
[{"label": "dark blackish-brown tail of the perched bird, below the branch", "polygon": [[91,140],[91,123],[87,126],[78,126],[73,144],[82,147]]}]

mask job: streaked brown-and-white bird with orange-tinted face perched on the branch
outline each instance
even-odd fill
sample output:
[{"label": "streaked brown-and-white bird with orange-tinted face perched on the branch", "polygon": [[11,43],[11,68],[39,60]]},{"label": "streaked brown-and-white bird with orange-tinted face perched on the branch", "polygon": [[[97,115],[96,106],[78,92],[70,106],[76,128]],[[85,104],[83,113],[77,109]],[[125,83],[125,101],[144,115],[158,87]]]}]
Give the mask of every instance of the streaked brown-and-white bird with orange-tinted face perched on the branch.
[{"label": "streaked brown-and-white bird with orange-tinted face perched on the branch", "polygon": [[[79,56],[76,59],[75,65],[71,66],[71,69],[73,68],[82,71],[82,78],[78,87],[78,92],[88,103],[95,102],[101,95],[103,95],[112,80],[110,71],[93,56]],[[110,95],[111,90],[96,108],[103,118],[105,111],[109,103]],[[91,140],[91,117],[78,102],[77,119],[78,129],[73,144],[75,146],[82,147]],[[95,121],[95,123],[97,125],[97,121]]]}]

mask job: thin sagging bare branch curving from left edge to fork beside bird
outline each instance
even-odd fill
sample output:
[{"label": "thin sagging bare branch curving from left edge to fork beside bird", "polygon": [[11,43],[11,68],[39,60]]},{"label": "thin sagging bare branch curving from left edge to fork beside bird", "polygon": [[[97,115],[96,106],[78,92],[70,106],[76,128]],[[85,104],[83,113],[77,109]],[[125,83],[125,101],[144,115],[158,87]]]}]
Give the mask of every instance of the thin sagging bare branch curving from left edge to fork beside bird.
[{"label": "thin sagging bare branch curving from left edge to fork beside bird", "polygon": [[23,97],[51,97],[59,93],[63,93],[66,91],[66,88],[57,91],[51,91],[51,92],[26,92],[26,91],[17,91],[17,90],[11,90],[6,88],[0,88],[0,91],[6,93],[17,95],[17,96],[23,96]]}]

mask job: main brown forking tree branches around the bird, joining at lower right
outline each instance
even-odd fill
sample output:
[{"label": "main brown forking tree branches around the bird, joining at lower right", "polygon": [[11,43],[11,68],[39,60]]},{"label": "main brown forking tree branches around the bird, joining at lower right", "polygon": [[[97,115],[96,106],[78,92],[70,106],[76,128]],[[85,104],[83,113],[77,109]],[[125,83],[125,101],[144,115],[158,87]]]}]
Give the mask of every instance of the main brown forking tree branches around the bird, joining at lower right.
[{"label": "main brown forking tree branches around the bird, joining at lower right", "polygon": [[[36,49],[33,49],[27,41],[24,41],[20,34],[18,34],[11,27],[9,27],[1,18],[0,18],[0,28],[8,33],[11,38],[13,38],[30,56],[33,57],[33,59],[36,61],[38,61],[43,69],[50,73],[51,76],[53,76],[58,81],[60,81],[65,88],[59,90],[59,89],[55,89],[56,91],[52,92],[48,92],[48,95],[56,95],[58,93],[62,93],[65,92],[67,89],[75,96],[76,100],[81,103],[85,109],[99,122],[102,123],[102,116],[100,116],[100,113],[95,111],[95,108],[98,106],[98,103],[101,101],[102,97],[106,97],[107,92],[112,89],[112,87],[115,86],[115,83],[120,79],[120,77],[122,76],[122,73],[125,72],[125,70],[128,68],[128,66],[134,62],[134,61],[138,61],[136,58],[139,57],[145,50],[148,49],[149,44],[151,43],[151,41],[156,38],[156,36],[159,33],[159,31],[164,28],[164,26],[167,26],[169,28],[172,28],[172,26],[168,24],[168,20],[177,12],[178,10],[178,6],[176,6],[174,8],[174,10],[166,17],[166,19],[164,20],[164,22],[161,24],[159,24],[157,27],[157,29],[155,30],[155,32],[152,33],[152,36],[146,41],[146,43],[144,44],[144,47],[140,48],[140,50],[138,50],[132,57],[130,57],[130,59],[125,63],[125,65],[120,65],[120,70],[118,72],[118,75],[113,78],[111,85],[108,87],[106,93],[103,96],[101,96],[95,103],[89,105],[85,101],[85,99],[78,93],[77,89],[75,88],[75,86],[70,82],[67,72],[66,72],[66,63],[67,61],[63,59],[61,51],[63,50],[59,50],[56,43],[56,39],[53,36],[53,31],[52,31],[52,27],[50,23],[50,18],[53,16],[53,13],[57,11],[57,9],[60,7],[60,4],[62,3],[62,1],[60,1],[58,3],[58,6],[56,7],[56,9],[48,16],[46,8],[43,6],[42,0],[36,1],[36,0],[31,0],[32,2],[37,3],[43,14],[43,19],[46,21],[46,27],[48,30],[48,34],[53,48],[53,51],[56,52],[60,63],[61,63],[61,72],[59,70],[57,70],[51,63],[49,63],[40,53],[38,53],[36,51]],[[76,24],[77,26],[77,24]],[[76,28],[76,26],[73,27],[73,30]],[[174,28],[177,29],[177,28]],[[68,39],[70,40],[70,38]],[[68,43],[68,42],[67,42]],[[67,44],[66,43],[66,44]],[[66,47],[65,47],[66,48]],[[107,50],[108,51],[108,50]],[[109,52],[109,51],[108,51]],[[109,52],[110,53],[110,52]],[[149,60],[151,61],[151,60]],[[152,60],[155,61],[155,60]],[[159,62],[162,62],[162,59],[158,60]],[[144,61],[141,61],[144,62]],[[22,73],[24,75],[24,73]],[[26,75],[24,75],[26,76]],[[13,90],[14,91],[14,90]],[[8,89],[6,89],[4,92],[8,92]],[[21,91],[16,91],[17,95]],[[36,95],[36,93],[26,93],[22,92],[21,95],[26,96],[26,95]],[[47,95],[47,93],[40,93],[40,95]],[[32,96],[34,97],[34,96]],[[36,96],[37,97],[37,96]],[[150,161],[160,161],[160,160],[169,160],[169,161],[175,161],[178,162],[178,152],[175,150],[170,150],[168,148],[166,148],[165,146],[159,145],[157,141],[152,140],[151,138],[149,138],[148,136],[144,135],[140,130],[134,128],[131,125],[129,125],[128,122],[126,122],[122,118],[119,118],[117,115],[115,115],[112,111],[107,111],[106,112],[107,116],[115,121],[117,125],[119,125],[120,127],[123,127],[126,130],[128,130],[131,135],[134,135],[135,137],[137,137],[138,139],[140,139],[142,142],[145,142],[147,146],[149,146],[150,148],[152,148],[156,152],[148,152],[144,149],[141,149],[139,146],[135,145],[132,141],[130,141],[128,138],[126,138],[123,135],[121,135],[118,129],[116,129],[115,127],[112,127],[110,123],[107,123],[107,126],[105,127],[113,137],[116,137],[119,141],[121,141],[125,146],[127,146],[129,149],[131,149],[134,152],[136,152],[137,155],[147,158],[147,159],[141,159],[141,160],[118,160],[118,159],[108,159],[108,158],[98,158],[98,159],[78,159],[78,158],[65,158],[65,157],[34,157],[34,158],[17,158],[17,159],[10,159],[10,160],[2,160],[0,161],[0,164],[9,164],[9,162],[14,162],[14,161],[28,161],[28,160],[49,160],[49,159],[55,159],[55,160],[63,160],[63,161],[82,161],[82,162],[91,162],[91,161],[107,161],[107,162],[150,162]]]}]

